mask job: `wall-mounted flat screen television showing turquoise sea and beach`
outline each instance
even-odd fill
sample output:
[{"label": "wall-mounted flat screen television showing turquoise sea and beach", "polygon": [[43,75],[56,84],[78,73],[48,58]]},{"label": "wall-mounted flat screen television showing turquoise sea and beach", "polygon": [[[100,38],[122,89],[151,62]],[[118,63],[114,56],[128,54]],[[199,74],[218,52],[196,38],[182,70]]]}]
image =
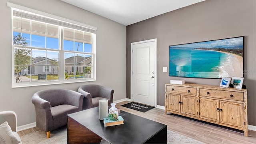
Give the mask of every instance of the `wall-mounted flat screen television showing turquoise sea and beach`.
[{"label": "wall-mounted flat screen television showing turquoise sea and beach", "polygon": [[169,76],[243,77],[244,36],[169,46]]}]

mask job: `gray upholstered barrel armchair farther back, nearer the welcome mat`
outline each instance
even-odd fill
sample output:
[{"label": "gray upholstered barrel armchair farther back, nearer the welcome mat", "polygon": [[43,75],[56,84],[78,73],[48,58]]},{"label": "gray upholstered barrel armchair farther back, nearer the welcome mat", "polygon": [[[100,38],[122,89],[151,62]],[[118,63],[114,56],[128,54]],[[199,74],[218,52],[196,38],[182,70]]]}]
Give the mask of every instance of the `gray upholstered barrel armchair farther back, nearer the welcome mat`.
[{"label": "gray upholstered barrel armchair farther back, nearer the welcome mat", "polygon": [[114,90],[105,86],[88,84],[80,86],[78,92],[84,95],[83,110],[99,106],[99,100],[108,100],[108,106],[113,102]]}]

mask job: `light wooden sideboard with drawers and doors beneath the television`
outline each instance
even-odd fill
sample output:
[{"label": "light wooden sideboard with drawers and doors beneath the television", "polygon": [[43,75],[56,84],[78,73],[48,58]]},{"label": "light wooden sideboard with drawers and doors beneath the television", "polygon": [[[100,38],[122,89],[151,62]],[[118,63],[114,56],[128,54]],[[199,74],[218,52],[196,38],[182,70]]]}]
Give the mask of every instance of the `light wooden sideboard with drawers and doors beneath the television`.
[{"label": "light wooden sideboard with drawers and doors beneath the television", "polygon": [[246,89],[165,84],[167,112],[243,130],[248,136]]}]

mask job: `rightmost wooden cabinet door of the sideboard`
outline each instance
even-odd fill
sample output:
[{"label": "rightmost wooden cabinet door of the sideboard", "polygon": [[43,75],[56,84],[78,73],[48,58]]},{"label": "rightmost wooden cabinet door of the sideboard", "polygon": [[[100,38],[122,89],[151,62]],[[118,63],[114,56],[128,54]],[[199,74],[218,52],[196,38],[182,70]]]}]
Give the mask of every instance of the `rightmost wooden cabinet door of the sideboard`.
[{"label": "rightmost wooden cabinet door of the sideboard", "polygon": [[220,122],[244,128],[244,104],[220,101]]}]

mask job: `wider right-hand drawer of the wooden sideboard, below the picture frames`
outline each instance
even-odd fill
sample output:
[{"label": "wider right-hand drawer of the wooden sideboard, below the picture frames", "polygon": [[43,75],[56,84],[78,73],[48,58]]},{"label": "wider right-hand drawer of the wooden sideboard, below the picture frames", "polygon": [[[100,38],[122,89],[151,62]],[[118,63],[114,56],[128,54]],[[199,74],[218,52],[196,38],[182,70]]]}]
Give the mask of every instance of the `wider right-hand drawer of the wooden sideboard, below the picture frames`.
[{"label": "wider right-hand drawer of the wooden sideboard, below the picture frames", "polygon": [[244,93],[242,92],[230,92],[224,90],[208,90],[208,89],[200,89],[200,96],[210,96],[214,98],[223,98],[229,100],[238,100],[244,101]]}]

